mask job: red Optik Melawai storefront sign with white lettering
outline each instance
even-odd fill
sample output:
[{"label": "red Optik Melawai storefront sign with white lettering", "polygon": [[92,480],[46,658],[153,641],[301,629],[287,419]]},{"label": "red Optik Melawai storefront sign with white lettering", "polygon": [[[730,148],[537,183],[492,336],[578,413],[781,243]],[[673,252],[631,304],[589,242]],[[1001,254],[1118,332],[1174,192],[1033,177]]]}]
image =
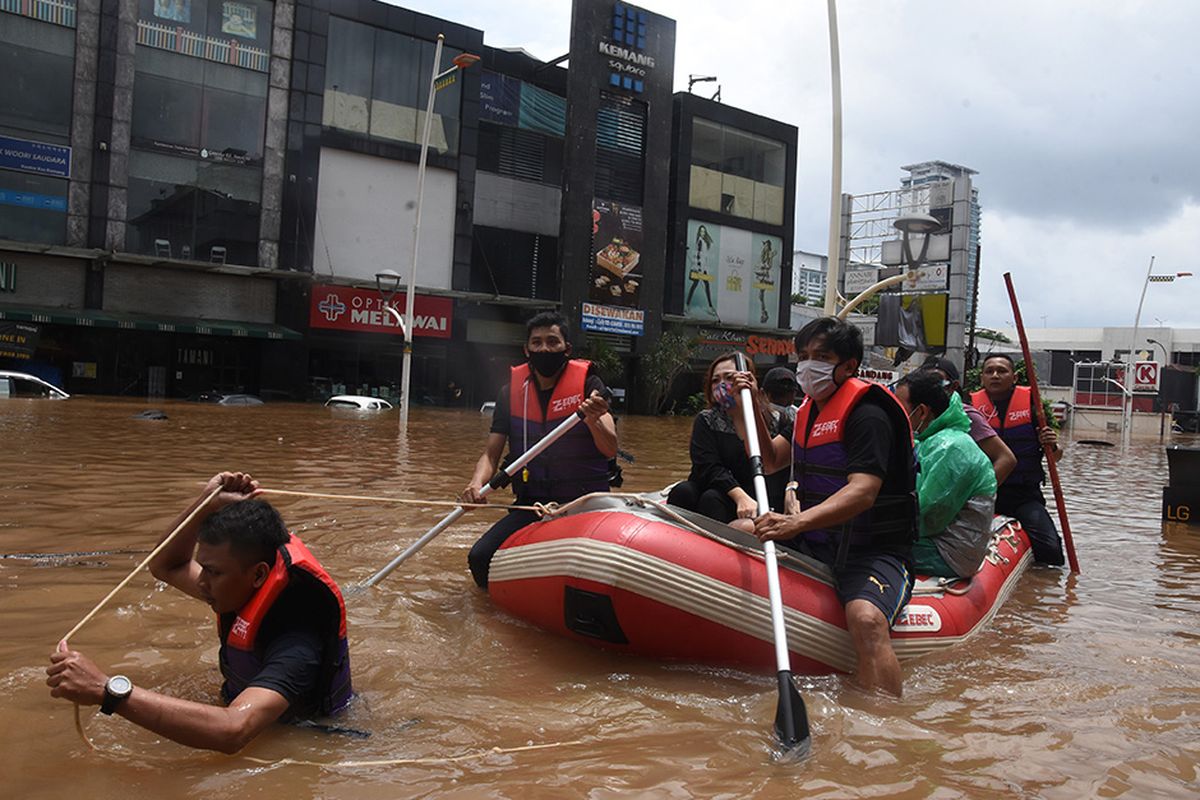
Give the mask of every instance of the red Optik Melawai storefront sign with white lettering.
[{"label": "red Optik Melawai storefront sign with white lettering", "polygon": [[[391,306],[403,317],[403,293],[392,299]],[[454,300],[450,297],[419,294],[413,300],[414,336],[448,339],[452,323]],[[312,287],[308,325],[340,331],[402,335],[400,324],[384,307],[378,291],[320,283]]]}]

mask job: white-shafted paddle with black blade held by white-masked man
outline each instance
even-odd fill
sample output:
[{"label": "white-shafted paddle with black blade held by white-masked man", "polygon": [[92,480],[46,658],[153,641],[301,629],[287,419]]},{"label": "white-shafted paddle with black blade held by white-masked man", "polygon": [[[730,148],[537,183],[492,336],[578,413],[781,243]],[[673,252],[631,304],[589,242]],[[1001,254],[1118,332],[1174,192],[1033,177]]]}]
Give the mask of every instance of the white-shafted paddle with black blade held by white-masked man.
[{"label": "white-shafted paddle with black blade held by white-masked man", "polygon": [[[746,372],[745,356],[734,356],[738,372]],[[758,426],[755,423],[754,399],[749,389],[742,390],[742,419],[746,426],[746,446],[750,450],[750,469],[754,473],[754,493],[758,500],[758,513],[770,511],[767,499],[767,479],[762,474],[762,453],[758,450]],[[779,591],[779,565],[775,561],[775,542],[762,545],[767,565],[767,595],[770,600],[770,627],[775,634],[775,667],[779,678],[779,706],[775,709],[775,736],[785,751],[796,751],[798,756],[808,754],[812,747],[809,734],[809,712],[804,708],[804,698],[792,682],[792,664],[787,655],[787,628],[784,626],[784,600]]]}]

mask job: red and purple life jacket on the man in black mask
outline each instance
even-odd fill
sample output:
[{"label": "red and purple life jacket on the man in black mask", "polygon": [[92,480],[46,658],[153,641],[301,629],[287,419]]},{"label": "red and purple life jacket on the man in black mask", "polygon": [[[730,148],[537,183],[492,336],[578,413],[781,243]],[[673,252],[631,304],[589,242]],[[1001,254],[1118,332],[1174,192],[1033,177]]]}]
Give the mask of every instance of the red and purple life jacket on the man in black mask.
[{"label": "red and purple life jacket on the man in black mask", "polygon": [[[590,362],[571,359],[558,377],[545,414],[538,401],[538,384],[528,363],[512,367],[509,383],[509,457],[518,458],[575,414],[587,399],[584,391]],[[582,422],[568,431],[526,467],[514,491],[522,499],[564,503],[592,492],[608,491],[608,457],[595,445]]]}]

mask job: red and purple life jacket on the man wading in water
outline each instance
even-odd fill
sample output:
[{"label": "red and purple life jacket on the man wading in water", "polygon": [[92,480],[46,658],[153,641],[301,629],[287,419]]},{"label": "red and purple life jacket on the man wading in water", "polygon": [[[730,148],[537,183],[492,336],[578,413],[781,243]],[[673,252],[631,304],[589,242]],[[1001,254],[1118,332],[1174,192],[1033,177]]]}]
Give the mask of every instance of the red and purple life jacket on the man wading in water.
[{"label": "red and purple life jacket on the man wading in water", "polygon": [[[263,662],[258,644],[258,632],[275,601],[292,583],[304,583],[317,591],[329,613],[324,630],[319,631],[324,640],[319,709],[322,715],[341,711],[350,702],[350,651],[346,638],[346,602],[334,579],[320,566],[317,558],[295,535],[288,534],[288,542],[280,547],[266,581],[232,619],[228,615],[217,618],[217,630],[221,634],[221,674],[224,685],[221,693],[226,703],[233,702],[262,672]],[[335,612],[336,610],[336,615]],[[332,620],[337,620],[336,625]]]}]

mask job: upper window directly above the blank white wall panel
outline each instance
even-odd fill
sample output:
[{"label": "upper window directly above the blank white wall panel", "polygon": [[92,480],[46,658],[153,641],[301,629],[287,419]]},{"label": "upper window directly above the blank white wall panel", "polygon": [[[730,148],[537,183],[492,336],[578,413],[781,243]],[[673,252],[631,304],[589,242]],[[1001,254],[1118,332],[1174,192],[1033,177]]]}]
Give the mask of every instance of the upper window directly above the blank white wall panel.
[{"label": "upper window directly above the blank white wall panel", "polygon": [[[325,59],[324,125],[389,142],[420,144],[434,43],[332,17]],[[460,50],[442,49],[448,68]],[[458,151],[461,80],[433,100],[430,146]]]}]

